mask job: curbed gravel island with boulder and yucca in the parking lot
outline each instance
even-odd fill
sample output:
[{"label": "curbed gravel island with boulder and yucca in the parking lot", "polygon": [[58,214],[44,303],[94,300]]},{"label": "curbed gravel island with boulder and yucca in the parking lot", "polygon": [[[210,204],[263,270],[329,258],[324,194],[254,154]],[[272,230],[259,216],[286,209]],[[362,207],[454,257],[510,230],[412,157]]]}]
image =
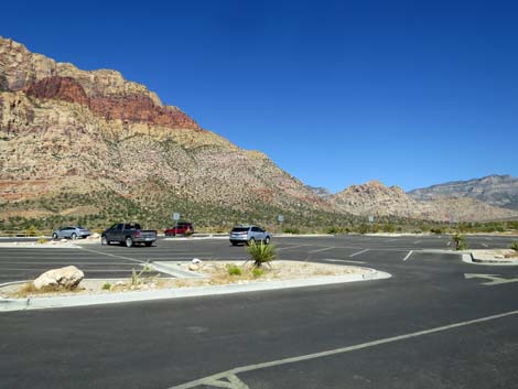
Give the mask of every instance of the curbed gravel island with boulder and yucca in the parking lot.
[{"label": "curbed gravel island with boulder and yucca in the parking lot", "polygon": [[147,270],[153,269],[153,264],[148,264],[133,271],[130,279],[84,279],[72,290],[36,291],[32,282],[3,285],[0,311],[229,294],[390,277],[368,268],[284,260],[260,267],[253,260],[161,262],[161,267],[169,267],[179,277],[148,277]]}]

